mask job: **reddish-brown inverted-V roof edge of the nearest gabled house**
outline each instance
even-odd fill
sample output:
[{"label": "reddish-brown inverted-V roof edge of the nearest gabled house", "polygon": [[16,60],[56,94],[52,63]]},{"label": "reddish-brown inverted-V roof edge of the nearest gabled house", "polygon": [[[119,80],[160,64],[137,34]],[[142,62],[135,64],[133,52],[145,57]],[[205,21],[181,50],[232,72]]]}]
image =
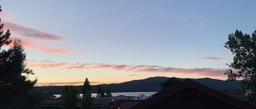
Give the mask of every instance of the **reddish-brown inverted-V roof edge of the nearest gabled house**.
[{"label": "reddish-brown inverted-V roof edge of the nearest gabled house", "polygon": [[212,89],[210,87],[201,85],[198,82],[195,82],[193,80],[187,79],[187,80],[184,80],[182,82],[179,82],[178,84],[173,85],[172,87],[169,87],[167,89],[164,89],[163,91],[160,91],[160,92],[152,95],[151,98],[141,102],[138,105],[133,106],[131,109],[148,108],[152,104],[156,104],[160,100],[163,100],[163,99],[169,97],[170,95],[175,94],[176,92],[181,91],[182,89],[187,88],[187,87],[197,89],[198,91],[203,92],[205,94],[208,94],[213,98],[222,100],[224,102],[227,102],[230,105],[233,105],[233,106],[236,106],[236,107],[239,107],[239,108],[242,108],[242,109],[253,109],[254,108],[253,106],[247,104],[246,102],[243,102],[241,100],[230,97],[229,95],[224,94],[224,93],[219,92],[219,91],[216,91],[215,89]]}]

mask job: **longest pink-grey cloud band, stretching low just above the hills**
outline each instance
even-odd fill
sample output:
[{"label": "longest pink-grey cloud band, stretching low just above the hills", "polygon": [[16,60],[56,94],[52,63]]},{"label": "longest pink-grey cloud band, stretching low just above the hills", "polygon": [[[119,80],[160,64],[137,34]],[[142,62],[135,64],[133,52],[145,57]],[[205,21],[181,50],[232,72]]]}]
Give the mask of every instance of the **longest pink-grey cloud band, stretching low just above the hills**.
[{"label": "longest pink-grey cloud band, stretching low just above the hills", "polygon": [[[224,72],[227,69],[213,68],[175,68],[163,66],[149,65],[108,65],[103,63],[67,63],[67,62],[51,62],[51,61],[34,61],[28,60],[29,67],[36,68],[62,68],[67,70],[81,69],[112,69],[124,72],[138,73],[177,73],[177,74],[197,74],[202,76],[225,76]],[[135,75],[135,74],[134,74]],[[129,76],[134,76],[133,74]]]}]

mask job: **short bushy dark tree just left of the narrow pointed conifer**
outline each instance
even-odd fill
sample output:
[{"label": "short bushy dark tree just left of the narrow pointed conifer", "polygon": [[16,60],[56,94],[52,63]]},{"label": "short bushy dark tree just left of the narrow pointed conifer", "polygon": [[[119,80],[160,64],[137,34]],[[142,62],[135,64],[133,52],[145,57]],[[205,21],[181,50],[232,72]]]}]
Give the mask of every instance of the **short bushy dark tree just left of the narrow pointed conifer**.
[{"label": "short bushy dark tree just left of the narrow pointed conifer", "polygon": [[79,91],[75,87],[70,87],[63,91],[61,95],[61,108],[63,109],[74,109],[79,100]]}]

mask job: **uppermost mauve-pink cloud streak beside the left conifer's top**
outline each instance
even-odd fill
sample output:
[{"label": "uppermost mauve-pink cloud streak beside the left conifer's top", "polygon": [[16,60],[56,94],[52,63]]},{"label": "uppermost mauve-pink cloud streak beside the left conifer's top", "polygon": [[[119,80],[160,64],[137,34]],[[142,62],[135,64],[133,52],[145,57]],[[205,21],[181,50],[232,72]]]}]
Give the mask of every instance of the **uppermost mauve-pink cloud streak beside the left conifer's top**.
[{"label": "uppermost mauve-pink cloud streak beside the left conifer's top", "polygon": [[29,40],[40,40],[40,41],[51,41],[51,42],[60,42],[64,41],[64,36],[54,35],[46,33],[44,31],[24,27],[19,24],[3,22],[5,29],[10,29],[11,34],[17,37],[24,37]]}]

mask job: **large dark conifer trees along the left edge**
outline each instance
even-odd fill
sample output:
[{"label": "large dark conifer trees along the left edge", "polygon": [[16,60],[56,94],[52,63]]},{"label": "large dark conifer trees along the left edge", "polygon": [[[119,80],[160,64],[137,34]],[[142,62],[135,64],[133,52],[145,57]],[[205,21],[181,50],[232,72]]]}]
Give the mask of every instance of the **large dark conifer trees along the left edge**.
[{"label": "large dark conifer trees along the left edge", "polygon": [[4,44],[10,43],[10,32],[3,33],[3,26],[0,23],[0,108],[40,108],[43,95],[33,87],[37,80],[27,79],[34,73],[27,68],[21,41],[16,40],[11,48],[1,50]]}]

